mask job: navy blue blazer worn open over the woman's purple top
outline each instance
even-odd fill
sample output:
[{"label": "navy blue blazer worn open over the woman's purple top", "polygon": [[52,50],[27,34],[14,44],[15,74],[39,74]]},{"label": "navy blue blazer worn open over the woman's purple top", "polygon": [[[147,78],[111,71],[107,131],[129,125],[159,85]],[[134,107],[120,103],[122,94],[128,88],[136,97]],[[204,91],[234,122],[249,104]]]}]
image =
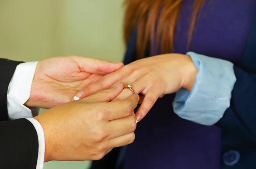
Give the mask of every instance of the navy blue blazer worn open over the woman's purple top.
[{"label": "navy blue blazer worn open over the woman's purple top", "polygon": [[[132,32],[128,41],[124,63],[136,60],[137,33]],[[149,50],[148,50],[149,51]],[[148,54],[145,55],[148,57]],[[240,63],[235,63],[235,83],[230,107],[216,123],[222,129],[221,151],[227,163],[221,169],[256,168],[256,14],[250,28]],[[232,150],[232,151],[230,151]],[[225,154],[225,152],[228,152]],[[102,160],[94,161],[91,169],[114,169],[119,148]],[[221,160],[223,161],[223,160]],[[227,164],[226,163],[226,164]],[[235,166],[232,166],[232,164]]]}]

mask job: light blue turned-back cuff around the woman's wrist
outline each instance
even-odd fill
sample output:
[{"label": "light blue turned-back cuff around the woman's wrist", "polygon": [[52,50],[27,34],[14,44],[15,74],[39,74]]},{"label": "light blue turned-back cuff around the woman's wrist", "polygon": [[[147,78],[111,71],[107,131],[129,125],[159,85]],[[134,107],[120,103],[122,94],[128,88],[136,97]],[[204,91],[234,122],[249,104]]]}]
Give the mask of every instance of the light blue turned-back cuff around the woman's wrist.
[{"label": "light blue turned-back cuff around the woman's wrist", "polygon": [[189,92],[180,89],[173,101],[174,112],[183,119],[213,125],[230,107],[231,92],[236,83],[233,63],[188,52],[198,69],[195,84]]}]

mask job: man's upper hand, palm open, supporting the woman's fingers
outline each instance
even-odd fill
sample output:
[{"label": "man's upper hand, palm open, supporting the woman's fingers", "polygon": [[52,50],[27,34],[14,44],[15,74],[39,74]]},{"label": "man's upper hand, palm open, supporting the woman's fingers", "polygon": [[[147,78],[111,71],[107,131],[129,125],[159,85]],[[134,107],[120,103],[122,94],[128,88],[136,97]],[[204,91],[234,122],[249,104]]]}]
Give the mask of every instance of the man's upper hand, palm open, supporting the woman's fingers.
[{"label": "man's upper hand, palm open, supporting the woman's fingers", "polygon": [[67,103],[79,90],[122,66],[79,56],[42,60],[36,67],[31,95],[25,105],[49,109]]}]

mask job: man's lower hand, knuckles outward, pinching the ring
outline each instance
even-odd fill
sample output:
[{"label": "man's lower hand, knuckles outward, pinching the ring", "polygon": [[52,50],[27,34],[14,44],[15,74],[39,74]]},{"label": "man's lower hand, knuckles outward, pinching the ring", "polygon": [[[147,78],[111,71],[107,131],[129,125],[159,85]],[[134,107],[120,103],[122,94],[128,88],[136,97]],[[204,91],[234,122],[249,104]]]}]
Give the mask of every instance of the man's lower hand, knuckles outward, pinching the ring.
[{"label": "man's lower hand, knuckles outward, pinching the ring", "polygon": [[132,143],[139,96],[110,102],[123,87],[121,83],[35,117],[44,129],[45,162],[99,160],[114,147]]}]

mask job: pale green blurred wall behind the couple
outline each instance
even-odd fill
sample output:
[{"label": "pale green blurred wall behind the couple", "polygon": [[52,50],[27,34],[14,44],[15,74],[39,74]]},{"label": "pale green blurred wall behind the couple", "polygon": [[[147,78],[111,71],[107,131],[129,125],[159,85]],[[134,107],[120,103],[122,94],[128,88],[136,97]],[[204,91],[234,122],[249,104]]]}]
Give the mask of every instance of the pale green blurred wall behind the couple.
[{"label": "pale green blurred wall behind the couple", "polygon": [[[123,0],[0,0],[0,57],[36,61],[81,55],[122,60]],[[41,112],[43,112],[42,110]],[[88,161],[44,169],[87,169]]]}]

